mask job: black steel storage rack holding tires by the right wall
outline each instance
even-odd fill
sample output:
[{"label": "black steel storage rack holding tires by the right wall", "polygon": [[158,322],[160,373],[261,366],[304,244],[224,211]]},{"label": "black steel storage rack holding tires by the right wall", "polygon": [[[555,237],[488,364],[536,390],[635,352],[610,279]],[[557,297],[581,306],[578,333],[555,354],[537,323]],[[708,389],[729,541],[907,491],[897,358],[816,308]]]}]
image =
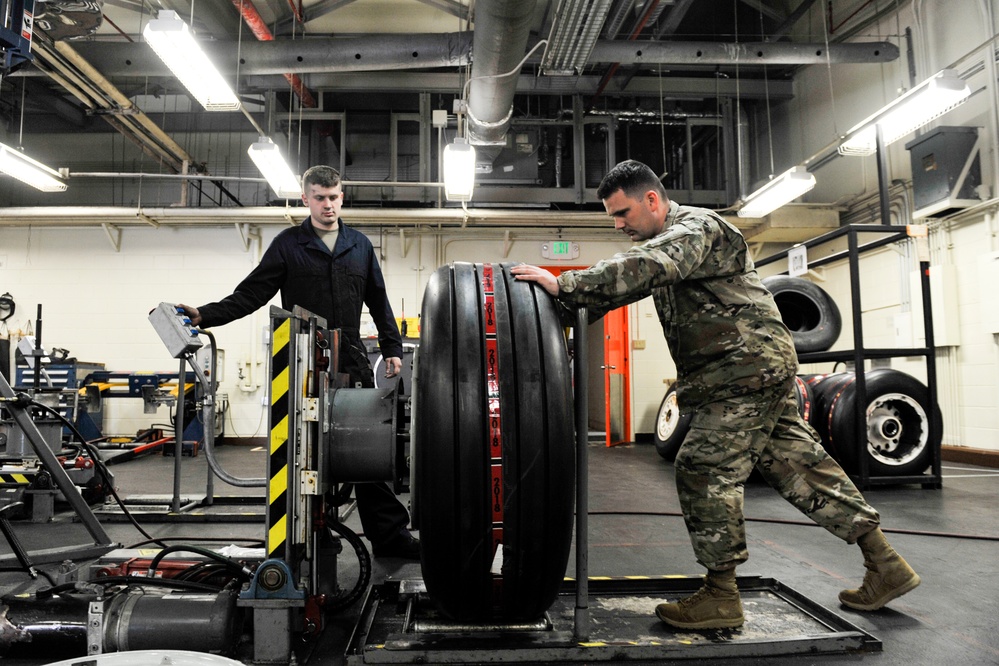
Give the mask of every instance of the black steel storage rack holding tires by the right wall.
[{"label": "black steel storage rack holding tires by the right wall", "polygon": [[[809,260],[809,268],[817,268],[844,258],[849,263],[850,273],[850,306],[853,319],[853,348],[842,351],[810,352],[798,355],[801,363],[825,363],[825,362],[853,362],[856,372],[854,400],[855,414],[855,446],[857,447],[857,471],[852,475],[854,481],[862,489],[873,486],[920,484],[923,488],[939,489],[942,487],[940,442],[935,441],[933,436],[936,426],[935,420],[937,404],[937,381],[936,381],[936,350],[933,339],[933,310],[930,302],[930,265],[928,253],[918,252],[919,258],[919,285],[923,303],[923,328],[925,330],[925,345],[922,347],[910,348],[889,348],[889,349],[867,349],[864,346],[864,330],[862,321],[861,298],[860,298],[860,255],[871,250],[890,245],[892,243],[921,242],[917,237],[916,229],[923,227],[909,227],[901,225],[885,224],[850,224],[840,227],[834,231],[817,236],[811,240],[801,243],[806,249],[824,245],[836,239],[846,237],[847,249],[835,252],[826,257]],[[877,236],[873,240],[861,243],[861,237],[870,238]],[[787,259],[788,250],[778,252],[769,257],[756,262],[757,268]],[[787,272],[787,271],[784,271]],[[927,446],[931,448],[931,459],[929,473],[899,475],[899,476],[872,476],[866,452],[868,446],[867,433],[867,382],[865,380],[865,362],[868,359],[889,359],[903,357],[922,357],[926,362],[926,388],[928,397],[928,409],[926,410]]]}]

